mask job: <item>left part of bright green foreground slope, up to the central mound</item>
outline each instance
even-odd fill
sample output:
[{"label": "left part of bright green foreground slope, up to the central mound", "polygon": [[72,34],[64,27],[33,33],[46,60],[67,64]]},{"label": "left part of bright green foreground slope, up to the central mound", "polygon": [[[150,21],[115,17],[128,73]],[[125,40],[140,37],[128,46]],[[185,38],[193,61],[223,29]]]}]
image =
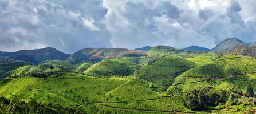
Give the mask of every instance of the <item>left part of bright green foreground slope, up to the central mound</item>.
[{"label": "left part of bright green foreground slope, up to the central mound", "polygon": [[92,78],[70,73],[59,78],[17,78],[0,83],[0,96],[69,106],[84,104],[83,100],[87,102],[105,100],[106,93],[128,80],[130,79]]}]

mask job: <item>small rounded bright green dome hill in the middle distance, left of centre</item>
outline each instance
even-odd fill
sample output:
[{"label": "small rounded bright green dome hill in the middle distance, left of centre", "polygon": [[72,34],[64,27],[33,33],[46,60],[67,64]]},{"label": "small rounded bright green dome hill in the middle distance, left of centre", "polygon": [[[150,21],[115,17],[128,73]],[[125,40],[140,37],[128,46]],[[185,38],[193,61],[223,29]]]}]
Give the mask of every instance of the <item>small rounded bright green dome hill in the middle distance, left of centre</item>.
[{"label": "small rounded bright green dome hill in the middle distance, left of centre", "polygon": [[136,63],[116,58],[102,60],[99,63],[93,64],[93,66],[84,71],[84,74],[90,76],[127,76],[132,74],[136,68],[138,68]]}]

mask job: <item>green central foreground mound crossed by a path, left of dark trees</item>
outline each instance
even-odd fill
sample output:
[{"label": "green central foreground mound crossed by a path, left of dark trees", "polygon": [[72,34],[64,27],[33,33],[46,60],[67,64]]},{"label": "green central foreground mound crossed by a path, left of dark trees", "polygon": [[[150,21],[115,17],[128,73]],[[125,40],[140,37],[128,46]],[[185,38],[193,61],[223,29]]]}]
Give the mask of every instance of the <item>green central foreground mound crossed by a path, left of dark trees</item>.
[{"label": "green central foreground mound crossed by a path, left of dark trees", "polygon": [[[110,97],[111,96],[111,97]],[[122,102],[124,103],[101,103],[107,106],[116,108],[128,108],[138,110],[153,110],[153,111],[170,111],[170,112],[193,112],[184,107],[182,97],[171,96],[156,99],[162,96],[168,96],[164,93],[158,93],[149,89],[148,85],[141,80],[132,80],[124,83],[121,86],[113,89],[107,94],[108,102]],[[118,97],[118,99],[117,99]],[[147,100],[155,99],[155,100]],[[145,100],[145,101],[137,101]],[[129,110],[128,110],[129,111]],[[129,111],[131,113],[132,111]],[[145,112],[145,111],[137,111]],[[147,112],[152,113],[152,112]],[[157,113],[157,112],[154,112]],[[159,112],[160,113],[160,112]]]}]

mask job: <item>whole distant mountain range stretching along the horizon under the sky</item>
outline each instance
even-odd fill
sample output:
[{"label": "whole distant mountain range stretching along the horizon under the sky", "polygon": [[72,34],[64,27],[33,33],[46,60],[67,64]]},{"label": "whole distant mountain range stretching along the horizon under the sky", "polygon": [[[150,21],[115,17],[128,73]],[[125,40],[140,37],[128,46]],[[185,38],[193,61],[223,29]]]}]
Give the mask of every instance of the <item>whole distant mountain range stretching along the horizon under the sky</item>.
[{"label": "whole distant mountain range stretching along the horizon under the sky", "polygon": [[[240,47],[237,47],[240,46]],[[256,42],[245,43],[237,38],[229,38],[223,40],[212,50],[199,46],[190,46],[178,50],[170,46],[145,46],[136,48],[135,50],[128,50],[126,48],[84,48],[74,54],[65,54],[52,47],[46,47],[36,50],[20,50],[16,52],[0,52],[1,59],[15,59],[25,62],[38,64],[45,60],[65,60],[69,59],[72,62],[80,63],[83,61],[99,62],[101,59],[110,59],[124,56],[146,56],[146,55],[168,55],[173,52],[222,52],[225,54],[238,54],[255,56]],[[184,50],[184,51],[183,51]]]}]

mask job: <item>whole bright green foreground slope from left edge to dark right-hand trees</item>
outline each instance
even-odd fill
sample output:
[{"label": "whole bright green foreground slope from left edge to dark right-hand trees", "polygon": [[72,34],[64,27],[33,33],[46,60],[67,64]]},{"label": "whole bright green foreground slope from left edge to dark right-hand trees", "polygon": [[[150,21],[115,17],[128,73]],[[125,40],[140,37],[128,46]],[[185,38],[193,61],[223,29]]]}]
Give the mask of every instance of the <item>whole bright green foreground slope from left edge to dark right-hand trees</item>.
[{"label": "whole bright green foreground slope from left edge to dark right-hand trees", "polygon": [[[15,100],[30,101],[33,99],[42,103],[60,103],[64,106],[95,104],[100,108],[109,109],[116,113],[152,113],[151,111],[134,111],[121,108],[193,112],[184,107],[182,97],[179,96],[148,101],[133,101],[168,96],[164,93],[152,91],[141,80],[93,78],[71,73],[58,78],[42,79],[27,77],[3,80],[0,82],[0,96]],[[119,97],[118,100],[116,97]],[[109,103],[116,101],[128,101],[128,103]],[[119,108],[109,108],[101,104]]]}]

